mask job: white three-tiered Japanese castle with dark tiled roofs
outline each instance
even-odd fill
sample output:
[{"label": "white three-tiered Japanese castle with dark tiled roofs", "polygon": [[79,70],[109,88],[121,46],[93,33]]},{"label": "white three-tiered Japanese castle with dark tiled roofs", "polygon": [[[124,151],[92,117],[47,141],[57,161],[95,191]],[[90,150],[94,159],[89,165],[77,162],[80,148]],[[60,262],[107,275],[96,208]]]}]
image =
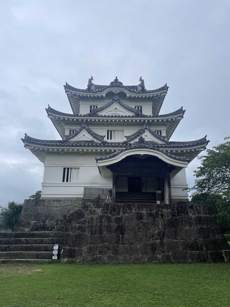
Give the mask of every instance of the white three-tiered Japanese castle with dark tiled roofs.
[{"label": "white three-tiered Japanese castle with dark tiled roofs", "polygon": [[86,89],[64,85],[73,114],[46,109],[61,140],[22,139],[44,164],[41,199],[188,201],[185,169],[209,141],[170,141],[185,110],[159,114],[167,84],[146,90],[139,82],[97,85],[91,76]]}]

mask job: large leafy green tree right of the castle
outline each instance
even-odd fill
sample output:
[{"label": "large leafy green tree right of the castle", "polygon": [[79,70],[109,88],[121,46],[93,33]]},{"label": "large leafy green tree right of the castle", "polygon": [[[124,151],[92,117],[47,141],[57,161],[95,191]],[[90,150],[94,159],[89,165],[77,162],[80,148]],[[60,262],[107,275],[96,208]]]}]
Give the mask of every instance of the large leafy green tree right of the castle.
[{"label": "large leafy green tree right of the castle", "polygon": [[198,157],[201,166],[194,170],[194,186],[189,188],[192,201],[212,205],[222,231],[230,231],[230,136],[227,142],[207,149],[206,156]]}]

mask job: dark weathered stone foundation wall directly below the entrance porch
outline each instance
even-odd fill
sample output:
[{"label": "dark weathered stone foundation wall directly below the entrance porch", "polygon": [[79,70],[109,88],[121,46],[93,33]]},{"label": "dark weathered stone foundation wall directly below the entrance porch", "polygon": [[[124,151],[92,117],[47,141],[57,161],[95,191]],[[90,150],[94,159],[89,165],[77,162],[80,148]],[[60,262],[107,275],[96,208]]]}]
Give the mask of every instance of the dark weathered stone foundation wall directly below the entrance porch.
[{"label": "dark weathered stone foundation wall directly below the entrance porch", "polygon": [[67,217],[63,230],[63,262],[230,260],[229,245],[207,205],[87,204]]}]

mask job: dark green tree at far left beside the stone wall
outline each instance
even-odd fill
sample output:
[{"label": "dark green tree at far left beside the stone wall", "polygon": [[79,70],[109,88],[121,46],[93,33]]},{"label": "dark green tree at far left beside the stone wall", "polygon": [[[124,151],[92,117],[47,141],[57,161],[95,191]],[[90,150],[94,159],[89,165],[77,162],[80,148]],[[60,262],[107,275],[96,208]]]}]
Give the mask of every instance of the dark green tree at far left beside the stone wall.
[{"label": "dark green tree at far left beside the stone wall", "polygon": [[8,202],[8,208],[0,206],[0,229],[13,231],[14,226],[20,216],[23,204]]}]

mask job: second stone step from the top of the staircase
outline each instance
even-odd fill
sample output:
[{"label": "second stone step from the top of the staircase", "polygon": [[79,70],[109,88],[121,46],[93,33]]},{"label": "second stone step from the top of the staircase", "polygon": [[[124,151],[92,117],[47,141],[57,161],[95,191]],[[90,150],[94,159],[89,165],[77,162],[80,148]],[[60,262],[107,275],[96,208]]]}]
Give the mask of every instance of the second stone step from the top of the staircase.
[{"label": "second stone step from the top of the staircase", "polygon": [[14,238],[0,239],[0,245],[18,245],[18,244],[63,244],[64,238]]}]

